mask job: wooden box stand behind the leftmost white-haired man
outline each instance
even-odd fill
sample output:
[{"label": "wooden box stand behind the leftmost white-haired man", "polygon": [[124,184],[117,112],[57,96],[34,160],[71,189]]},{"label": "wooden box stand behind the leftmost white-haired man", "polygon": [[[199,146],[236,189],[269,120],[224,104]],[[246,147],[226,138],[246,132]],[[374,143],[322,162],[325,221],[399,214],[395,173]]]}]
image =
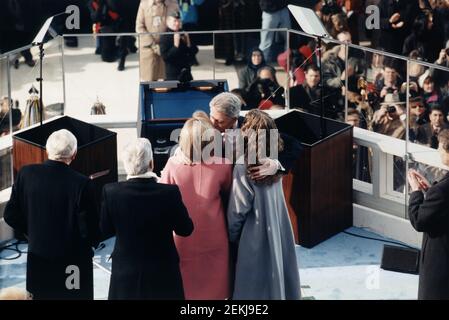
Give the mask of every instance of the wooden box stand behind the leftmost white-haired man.
[{"label": "wooden box stand behind the leftmost white-haired man", "polygon": [[99,204],[103,186],[118,180],[117,134],[68,116],[13,135],[14,176],[25,165],[48,159],[45,144],[50,134],[60,129],[67,129],[76,137],[78,152],[70,166],[93,180]]}]

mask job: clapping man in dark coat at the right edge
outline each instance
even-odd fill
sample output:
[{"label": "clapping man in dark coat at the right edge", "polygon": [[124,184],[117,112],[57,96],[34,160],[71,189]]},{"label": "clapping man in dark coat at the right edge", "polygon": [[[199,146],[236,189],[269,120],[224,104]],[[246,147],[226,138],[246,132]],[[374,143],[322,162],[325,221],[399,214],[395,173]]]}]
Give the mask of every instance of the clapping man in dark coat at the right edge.
[{"label": "clapping man in dark coat at the right edge", "polygon": [[[438,141],[441,161],[447,166],[448,129],[439,133]],[[408,179],[413,191],[410,222],[416,231],[423,232],[418,299],[449,299],[449,174],[433,186],[415,170],[409,171]]]}]

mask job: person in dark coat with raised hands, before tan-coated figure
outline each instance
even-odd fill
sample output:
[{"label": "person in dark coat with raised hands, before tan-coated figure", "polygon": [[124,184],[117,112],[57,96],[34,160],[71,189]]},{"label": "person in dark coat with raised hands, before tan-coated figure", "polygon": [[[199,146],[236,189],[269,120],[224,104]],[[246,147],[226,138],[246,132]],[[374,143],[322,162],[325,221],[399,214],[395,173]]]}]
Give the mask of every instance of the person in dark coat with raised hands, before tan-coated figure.
[{"label": "person in dark coat with raised hands, before tan-coated figure", "polygon": [[174,33],[162,35],[159,44],[165,62],[165,80],[193,80],[190,67],[195,62],[198,48],[192,44],[187,33],[181,32],[182,23],[178,11],[169,13],[167,31]]}]

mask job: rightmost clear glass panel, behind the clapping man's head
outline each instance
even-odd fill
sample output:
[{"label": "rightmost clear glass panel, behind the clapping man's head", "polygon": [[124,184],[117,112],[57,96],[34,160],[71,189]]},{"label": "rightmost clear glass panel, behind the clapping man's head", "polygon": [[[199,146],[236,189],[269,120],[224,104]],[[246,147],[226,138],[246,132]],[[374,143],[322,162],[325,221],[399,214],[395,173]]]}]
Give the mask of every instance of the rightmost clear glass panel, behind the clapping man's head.
[{"label": "rightmost clear glass panel, behind the clapping man's head", "polygon": [[[422,175],[431,185],[447,174],[447,167],[443,165],[437,149],[439,133],[449,129],[449,72],[438,67],[429,68],[421,62],[424,57],[417,52],[412,52],[411,58],[407,149],[412,161],[408,167]],[[445,59],[447,55],[440,57],[437,64],[445,67]],[[408,192],[412,191],[409,185]]]}]

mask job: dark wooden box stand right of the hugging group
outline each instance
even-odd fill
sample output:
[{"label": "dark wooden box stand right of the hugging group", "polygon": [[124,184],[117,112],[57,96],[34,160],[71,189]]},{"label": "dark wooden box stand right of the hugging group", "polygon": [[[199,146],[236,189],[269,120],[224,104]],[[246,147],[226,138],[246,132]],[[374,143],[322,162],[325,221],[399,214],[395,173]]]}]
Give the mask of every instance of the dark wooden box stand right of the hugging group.
[{"label": "dark wooden box stand right of the hugging group", "polygon": [[316,244],[352,226],[352,126],[294,110],[276,119],[279,131],[297,138],[303,152],[283,179],[295,240]]}]

